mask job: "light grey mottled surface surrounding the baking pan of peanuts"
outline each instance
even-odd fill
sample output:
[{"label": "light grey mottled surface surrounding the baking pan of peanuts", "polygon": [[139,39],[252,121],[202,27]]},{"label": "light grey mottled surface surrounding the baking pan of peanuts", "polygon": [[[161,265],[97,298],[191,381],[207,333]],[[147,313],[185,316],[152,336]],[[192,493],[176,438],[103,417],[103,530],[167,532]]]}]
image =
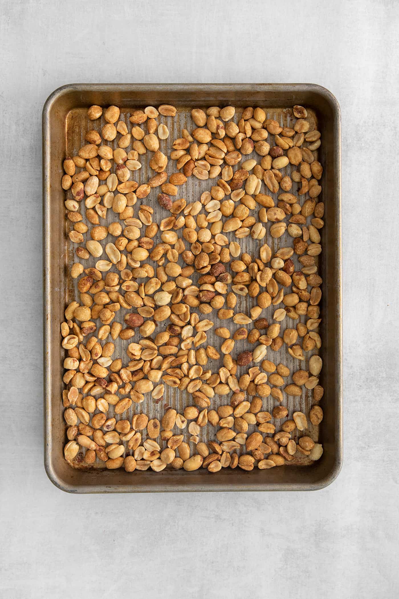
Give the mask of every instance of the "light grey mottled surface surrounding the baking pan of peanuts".
[{"label": "light grey mottled surface surrounding the baking pan of peanuts", "polygon": [[[1,2],[7,598],[398,596],[395,0]],[[299,494],[72,496],[42,465],[41,110],[78,82],[303,82],[342,109],[345,459]]]}]

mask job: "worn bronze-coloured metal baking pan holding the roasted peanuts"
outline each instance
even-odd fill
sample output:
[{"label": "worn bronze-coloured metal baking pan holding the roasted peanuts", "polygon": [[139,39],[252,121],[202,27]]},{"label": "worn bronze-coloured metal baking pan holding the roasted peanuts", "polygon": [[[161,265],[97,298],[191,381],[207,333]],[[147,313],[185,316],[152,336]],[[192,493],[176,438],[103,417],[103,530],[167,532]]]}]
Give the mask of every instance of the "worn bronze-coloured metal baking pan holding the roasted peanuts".
[{"label": "worn bronze-coloured metal baking pan holding the roasted peanuts", "polygon": [[[178,109],[175,120],[167,122],[170,129],[169,142],[179,137],[178,129],[190,128],[190,110],[193,107],[260,106],[267,111],[269,118],[280,120],[285,125],[289,125],[288,108],[292,108],[294,104],[307,107],[310,118],[314,119],[313,124],[321,131],[322,144],[318,150],[318,160],[324,167],[322,187],[325,226],[322,233],[323,252],[319,262],[319,273],[324,281],[320,331],[323,343],[320,353],[324,362],[321,380],[325,389],[321,402],[324,420],[319,430],[312,431],[324,447],[319,461],[294,461],[284,467],[271,470],[255,468],[251,472],[240,468],[223,468],[217,474],[210,474],[206,469],[191,473],[168,468],[160,473],[152,470],[134,473],[96,468],[85,470],[72,468],[63,458],[65,422],[61,395],[64,350],[60,345],[59,330],[66,302],[74,298],[74,282],[67,268],[73,261],[73,249],[69,247],[71,244],[63,204],[65,192],[60,186],[60,180],[63,159],[66,155],[77,153],[84,143],[84,132],[91,128],[87,108],[92,104],[117,105],[126,118],[133,108],[175,105]],[[63,491],[75,493],[310,491],[330,484],[342,464],[341,149],[340,108],[334,96],[324,87],[312,84],[71,84],[57,89],[45,102],[42,128],[44,463],[51,482]],[[139,177],[142,177],[142,180],[138,180],[139,183],[147,180],[147,168],[137,171]],[[194,177],[191,179],[193,181],[188,180],[190,183],[185,190],[187,201],[191,201],[190,194],[194,196],[204,189],[200,187],[203,181],[194,180]],[[151,200],[153,195],[156,194],[148,196],[146,202],[154,201],[154,198]],[[243,241],[250,243],[251,238]],[[242,311],[245,311],[245,306]],[[268,357],[270,358],[270,354]],[[290,356],[287,359],[287,353],[272,355],[270,359],[275,361],[275,358],[288,364]],[[170,391],[166,400],[176,409],[182,409],[185,403],[183,394],[176,398],[174,390]],[[293,398],[288,398],[287,402],[290,414],[293,411],[291,400]],[[300,406],[308,412],[310,399],[306,396],[301,401],[303,403]],[[145,404],[146,402],[139,406]],[[212,407],[217,407],[217,403],[212,403]],[[264,409],[269,407],[265,406]],[[141,409],[137,410],[140,411]],[[162,404],[145,407],[142,411],[150,418],[160,419],[163,415]],[[205,428],[208,429],[209,426]]]}]

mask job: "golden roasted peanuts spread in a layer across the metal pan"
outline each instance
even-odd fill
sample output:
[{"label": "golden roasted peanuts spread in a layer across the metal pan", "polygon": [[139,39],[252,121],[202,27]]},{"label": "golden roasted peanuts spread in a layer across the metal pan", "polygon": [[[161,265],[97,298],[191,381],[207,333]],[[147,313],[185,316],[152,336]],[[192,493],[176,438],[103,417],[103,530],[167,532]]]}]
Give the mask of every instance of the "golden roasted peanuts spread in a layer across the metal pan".
[{"label": "golden roasted peanuts spread in a layer across the metal pan", "polygon": [[[92,106],[90,121],[105,124],[63,162],[78,294],[61,323],[65,459],[211,473],[317,460],[321,134],[299,105],[293,128],[259,107],[208,107],[191,110],[191,131],[168,144],[159,120],[175,115],[166,104],[126,119],[116,106]],[[154,174],[139,185],[133,176],[145,159]],[[187,202],[190,177],[214,184]],[[285,234],[290,243],[272,250]],[[253,253],[242,251],[246,237]],[[114,355],[117,339],[126,356]],[[272,360],[282,347],[294,371]],[[164,403],[160,419],[149,419],[141,408],[165,401],[165,386],[187,405],[178,413]],[[309,414],[289,418],[287,398],[308,392]],[[201,440],[205,428],[213,440]]]}]

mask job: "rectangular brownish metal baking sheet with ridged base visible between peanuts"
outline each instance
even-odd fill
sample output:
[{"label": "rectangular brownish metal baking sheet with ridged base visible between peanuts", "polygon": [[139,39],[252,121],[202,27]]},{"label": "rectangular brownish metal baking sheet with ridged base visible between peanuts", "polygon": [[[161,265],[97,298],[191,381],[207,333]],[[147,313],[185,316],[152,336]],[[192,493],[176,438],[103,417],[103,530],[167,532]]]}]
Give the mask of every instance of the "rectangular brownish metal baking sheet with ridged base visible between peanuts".
[{"label": "rectangular brownish metal baking sheet with ridged base visible between peanuts", "polygon": [[[243,489],[288,489],[288,488],[315,488],[324,486],[325,483],[336,476],[339,471],[342,456],[341,450],[341,333],[340,333],[340,138],[339,138],[339,108],[336,101],[326,90],[318,86],[272,86],[260,84],[258,86],[66,86],[59,92],[54,92],[55,96],[49,98],[44,109],[44,243],[45,243],[45,351],[46,355],[46,373],[45,373],[45,443],[46,443],[46,467],[50,478],[61,488],[70,491],[167,491],[167,490],[243,490]],[[202,96],[202,97],[201,97]],[[239,97],[237,97],[239,96]],[[327,96],[327,98],[326,98]],[[324,103],[323,103],[324,101]],[[319,274],[323,279],[321,317],[322,323],[320,334],[322,336],[322,348],[320,355],[324,366],[321,373],[320,384],[324,386],[325,393],[321,400],[321,407],[324,410],[324,420],[320,427],[314,427],[309,422],[309,434],[313,440],[319,441],[324,446],[324,455],[319,462],[310,463],[308,458],[294,458],[284,467],[272,468],[272,470],[254,471],[246,473],[236,468],[221,470],[217,474],[210,474],[206,470],[200,469],[194,473],[187,473],[184,470],[173,471],[169,468],[161,473],[153,471],[135,471],[134,473],[124,473],[123,471],[101,471],[93,473],[90,471],[74,470],[63,460],[62,447],[65,443],[65,423],[62,418],[63,407],[61,401],[62,383],[62,359],[63,352],[60,346],[59,324],[62,321],[62,312],[65,309],[65,301],[68,303],[76,299],[76,290],[74,286],[77,280],[72,280],[69,276],[70,265],[77,261],[74,256],[74,247],[68,238],[68,232],[72,228],[72,223],[65,219],[65,210],[63,199],[65,192],[60,188],[60,179],[62,177],[62,160],[65,156],[76,155],[78,149],[86,142],[84,135],[89,129],[100,130],[105,123],[103,119],[90,121],[87,118],[87,107],[91,104],[100,104],[107,106],[109,104],[118,105],[121,108],[120,120],[125,120],[129,127],[130,111],[133,108],[144,108],[146,105],[159,105],[160,103],[173,104],[178,108],[175,117],[159,116],[159,123],[165,123],[169,129],[169,138],[160,140],[160,150],[169,154],[171,144],[177,137],[181,137],[183,128],[191,131],[194,123],[191,120],[190,110],[193,107],[206,108],[209,105],[223,106],[232,104],[236,107],[237,122],[239,112],[246,105],[260,106],[267,113],[267,118],[278,120],[281,125],[291,125],[291,108],[293,104],[305,105],[308,111],[307,119],[312,128],[318,128],[322,133],[321,147],[319,156],[316,159],[322,163],[324,174],[322,177],[322,200],[325,202],[324,221],[325,226],[321,231],[323,252],[319,256]],[[324,105],[326,104],[326,105]],[[331,119],[327,118],[325,111],[330,110],[333,113]],[[57,135],[57,128],[63,125],[63,135]],[[313,127],[314,126],[314,127]],[[109,143],[112,147],[117,147],[116,140]],[[245,156],[245,159],[259,158],[255,153]],[[132,179],[138,184],[145,183],[153,176],[153,171],[148,167],[148,154],[141,157],[142,168],[133,173]],[[167,173],[172,173],[175,167],[174,161],[168,162]],[[239,167],[236,167],[239,168]],[[285,168],[285,174],[290,174],[296,167],[288,165]],[[179,197],[184,197],[187,203],[196,201],[201,193],[215,184],[215,180],[200,181],[195,177],[190,177],[184,186],[179,187]],[[293,184],[295,192],[297,184]],[[150,205],[158,210],[156,198],[159,189],[151,190],[147,198],[141,202]],[[270,193],[266,186],[262,186],[261,192]],[[273,194],[271,194],[273,195]],[[276,200],[276,196],[273,196]],[[138,202],[139,203],[139,202]],[[136,205],[137,206],[137,205]],[[135,208],[135,216],[138,210]],[[84,210],[82,211],[84,213]],[[163,214],[162,217],[165,217]],[[85,222],[84,217],[84,222]],[[117,220],[112,210],[108,210],[106,221],[100,219],[100,224],[109,224]],[[157,217],[157,222],[159,217]],[[90,223],[89,223],[90,224]],[[58,234],[57,234],[58,231]],[[228,234],[229,240],[236,240],[234,234]],[[273,254],[279,247],[292,246],[292,238],[286,233],[277,240],[267,235],[264,240],[252,240],[251,237],[239,240],[242,246],[242,252],[248,252],[258,257],[258,248],[268,243],[272,248]],[[103,240],[102,245],[109,242],[109,239]],[[332,243],[331,243],[332,242]],[[103,258],[103,256],[102,256]],[[297,256],[293,256],[296,270],[300,269]],[[83,261],[84,267],[95,266],[97,259],[90,257]],[[179,262],[182,264],[182,262]],[[194,275],[194,283],[196,276]],[[47,285],[46,285],[47,283]],[[235,311],[249,313],[253,299],[237,296],[237,306]],[[46,301],[47,300],[47,301]],[[263,310],[261,316],[266,317],[269,323],[272,321],[272,313],[275,307],[271,305]],[[123,322],[123,316],[129,310],[121,308],[115,316],[114,322]],[[193,310],[191,310],[193,311]],[[239,325],[233,323],[233,320],[219,321],[217,310],[202,316],[214,321],[214,328],[217,326],[228,326],[232,331],[239,328]],[[301,317],[300,322],[306,320]],[[49,326],[49,322],[52,323]],[[296,321],[298,322],[298,321]],[[282,331],[288,326],[295,326],[296,323],[286,318],[282,322]],[[163,330],[166,322],[160,323],[156,331]],[[248,330],[251,326],[248,326]],[[207,343],[220,347],[220,338],[216,337],[212,331],[207,332]],[[131,341],[136,341],[137,336]],[[129,361],[126,355],[126,347],[129,341],[118,339],[115,343],[115,357],[123,359],[123,365]],[[252,346],[252,349],[254,349]],[[236,341],[233,355],[247,349],[248,343],[245,341]],[[314,353],[314,352],[313,352]],[[287,346],[284,344],[278,352],[273,352],[268,348],[267,359],[275,364],[285,364],[290,368],[290,372],[299,368],[307,368],[306,362],[294,361],[288,354]],[[310,357],[310,356],[308,356]],[[57,364],[58,362],[58,364]],[[223,355],[219,364],[215,361],[209,361],[205,368],[211,368],[217,371],[222,365]],[[61,368],[60,368],[61,367]],[[242,374],[242,372],[240,373]],[[58,377],[58,378],[57,378]],[[285,384],[292,382],[291,376],[285,379]],[[288,397],[284,394],[282,405],[287,406],[288,418],[292,417],[293,412],[301,411],[309,414],[312,405],[312,391],[304,388],[301,398]],[[221,404],[226,404],[229,396],[215,397],[211,400],[210,409],[217,409]],[[145,413],[148,418],[162,419],[165,413],[165,404],[174,407],[178,412],[183,413],[184,407],[193,405],[187,392],[178,392],[165,385],[165,402],[154,403],[150,394],[145,396],[141,404],[133,404],[129,413],[124,413],[123,418],[131,419],[134,413]],[[273,407],[278,402],[272,397],[263,399],[263,410],[272,412]],[[109,416],[112,415],[113,407],[110,406]],[[281,423],[277,421],[276,423]],[[320,428],[320,430],[318,429]],[[250,425],[248,435],[256,429],[255,425]],[[278,429],[278,426],[276,426]],[[200,431],[200,441],[212,440],[215,438],[217,427],[210,424],[203,427]],[[182,431],[185,434],[185,441],[188,441],[190,434],[188,428]],[[187,437],[187,438],[186,438]],[[293,435],[297,440],[296,435]],[[191,452],[195,452],[195,447],[191,443]],[[333,458],[333,459],[331,459]],[[63,462],[63,463],[62,463]],[[102,467],[99,462],[95,466]],[[323,468],[324,466],[324,468]],[[65,468],[66,467],[66,468]],[[57,471],[62,471],[60,476]],[[68,471],[69,470],[69,471]],[[324,470],[323,475],[316,471]],[[327,472],[327,474],[326,474]],[[62,480],[61,480],[62,479]],[[100,479],[100,480],[99,480]],[[317,481],[317,482],[316,482]],[[323,481],[323,482],[321,482]],[[176,488],[178,487],[178,488]]]}]

